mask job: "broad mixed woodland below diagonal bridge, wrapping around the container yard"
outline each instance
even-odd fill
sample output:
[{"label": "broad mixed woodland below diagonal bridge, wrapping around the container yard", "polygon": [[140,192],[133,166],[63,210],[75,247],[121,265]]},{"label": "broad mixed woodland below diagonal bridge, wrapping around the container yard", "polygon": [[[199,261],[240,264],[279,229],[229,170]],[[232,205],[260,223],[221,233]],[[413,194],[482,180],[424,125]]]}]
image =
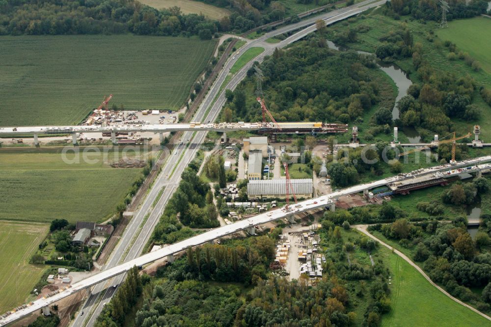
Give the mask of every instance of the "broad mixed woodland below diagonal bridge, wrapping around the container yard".
[{"label": "broad mixed woodland below diagonal bridge, wrapping around the container yard", "polygon": [[[312,283],[305,277],[289,281],[269,268],[279,233],[189,248],[159,267],[155,277],[143,274],[140,281],[125,282],[128,299],[134,300],[118,305],[134,305],[126,318],[142,327],[379,326],[391,304],[385,257],[374,241],[349,224],[341,228],[326,219],[320,230],[326,276]],[[358,259],[368,253],[373,266]],[[98,327],[132,324],[117,314],[115,302],[107,305]]]}]

